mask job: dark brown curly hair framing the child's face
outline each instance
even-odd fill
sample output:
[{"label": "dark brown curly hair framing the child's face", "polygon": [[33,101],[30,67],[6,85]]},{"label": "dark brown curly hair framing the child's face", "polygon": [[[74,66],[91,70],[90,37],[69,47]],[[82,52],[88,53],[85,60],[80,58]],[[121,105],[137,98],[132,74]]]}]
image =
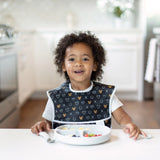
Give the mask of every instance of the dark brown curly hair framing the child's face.
[{"label": "dark brown curly hair framing the child's face", "polygon": [[[91,48],[94,62],[97,65],[97,70],[92,72],[91,80],[101,80],[103,74],[102,67],[106,63],[105,50],[99,39],[89,31],[67,34],[60,39],[55,49],[54,63],[57,66],[57,72],[63,74],[62,65],[64,64],[66,49],[75,43],[84,43]],[[65,78],[66,80],[69,80],[67,72],[65,72]]]}]

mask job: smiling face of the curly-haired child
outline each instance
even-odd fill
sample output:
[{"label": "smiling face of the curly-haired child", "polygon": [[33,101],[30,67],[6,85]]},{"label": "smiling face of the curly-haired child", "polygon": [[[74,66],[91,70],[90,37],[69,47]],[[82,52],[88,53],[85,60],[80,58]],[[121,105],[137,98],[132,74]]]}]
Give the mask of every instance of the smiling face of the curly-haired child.
[{"label": "smiling face of the curly-haired child", "polygon": [[84,43],[75,43],[66,49],[63,71],[71,83],[90,82],[92,71],[96,71],[92,50]]}]

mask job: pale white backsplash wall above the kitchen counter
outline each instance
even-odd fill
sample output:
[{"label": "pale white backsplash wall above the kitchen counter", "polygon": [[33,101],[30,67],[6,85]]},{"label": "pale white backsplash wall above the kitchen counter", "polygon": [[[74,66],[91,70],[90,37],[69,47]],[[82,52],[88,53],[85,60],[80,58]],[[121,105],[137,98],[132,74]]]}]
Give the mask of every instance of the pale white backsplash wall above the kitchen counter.
[{"label": "pale white backsplash wall above the kitchen counter", "polygon": [[[135,27],[134,15],[136,11],[128,15],[125,20],[127,25],[129,22]],[[71,16],[71,21],[67,21],[68,16]],[[97,0],[0,1],[0,23],[8,23],[18,30],[69,28],[71,25],[87,29],[114,27],[113,15],[107,11],[102,12],[97,6]]]}]

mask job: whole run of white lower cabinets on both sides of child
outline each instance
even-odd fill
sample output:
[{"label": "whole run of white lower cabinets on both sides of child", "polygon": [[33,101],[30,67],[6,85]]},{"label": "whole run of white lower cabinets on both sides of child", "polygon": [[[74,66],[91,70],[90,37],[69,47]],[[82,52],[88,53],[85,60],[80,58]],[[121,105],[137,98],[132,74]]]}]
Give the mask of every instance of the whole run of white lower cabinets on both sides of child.
[{"label": "whole run of white lower cabinets on both sides of child", "polygon": [[[59,39],[69,32],[37,30],[34,40],[33,35],[28,35],[33,41],[23,42],[25,47],[21,47],[19,66],[21,102],[34,90],[40,94],[43,92],[46,96],[47,90],[56,88],[64,81],[56,71],[53,51]],[[141,100],[143,97],[142,32],[137,29],[113,29],[96,30],[92,33],[95,33],[107,51],[107,64],[104,67],[102,82],[115,85],[120,98]],[[34,61],[30,58],[31,54],[34,55],[32,56]]]}]

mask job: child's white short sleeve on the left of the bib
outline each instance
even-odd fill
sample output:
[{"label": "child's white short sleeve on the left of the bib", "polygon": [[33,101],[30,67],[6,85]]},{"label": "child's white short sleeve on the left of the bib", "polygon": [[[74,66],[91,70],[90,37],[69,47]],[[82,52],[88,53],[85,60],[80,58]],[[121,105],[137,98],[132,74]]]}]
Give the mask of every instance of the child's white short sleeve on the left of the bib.
[{"label": "child's white short sleeve on the left of the bib", "polygon": [[48,98],[45,110],[42,114],[42,117],[49,120],[49,121],[53,121],[54,119],[54,104],[51,100],[51,98]]}]

